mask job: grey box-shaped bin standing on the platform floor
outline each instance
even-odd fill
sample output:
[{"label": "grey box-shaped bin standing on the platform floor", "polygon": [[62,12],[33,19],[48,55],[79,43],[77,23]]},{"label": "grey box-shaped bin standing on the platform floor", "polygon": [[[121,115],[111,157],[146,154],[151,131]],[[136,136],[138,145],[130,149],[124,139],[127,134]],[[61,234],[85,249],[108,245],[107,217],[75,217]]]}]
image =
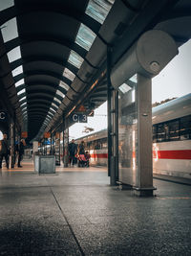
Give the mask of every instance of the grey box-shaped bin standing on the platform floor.
[{"label": "grey box-shaped bin standing on the platform floor", "polygon": [[38,174],[55,174],[55,156],[34,154],[34,171]]}]

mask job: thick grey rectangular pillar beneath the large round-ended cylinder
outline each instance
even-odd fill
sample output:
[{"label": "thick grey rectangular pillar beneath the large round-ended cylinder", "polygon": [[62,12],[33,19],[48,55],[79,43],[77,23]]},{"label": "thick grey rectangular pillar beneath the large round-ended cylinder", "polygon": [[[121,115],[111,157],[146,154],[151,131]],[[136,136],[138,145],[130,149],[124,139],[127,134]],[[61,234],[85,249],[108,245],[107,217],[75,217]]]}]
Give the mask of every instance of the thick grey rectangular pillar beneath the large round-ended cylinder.
[{"label": "thick grey rectangular pillar beneath the large round-ended cylinder", "polygon": [[138,110],[138,168],[135,195],[153,196],[152,90],[151,79],[138,74],[136,105]]}]

